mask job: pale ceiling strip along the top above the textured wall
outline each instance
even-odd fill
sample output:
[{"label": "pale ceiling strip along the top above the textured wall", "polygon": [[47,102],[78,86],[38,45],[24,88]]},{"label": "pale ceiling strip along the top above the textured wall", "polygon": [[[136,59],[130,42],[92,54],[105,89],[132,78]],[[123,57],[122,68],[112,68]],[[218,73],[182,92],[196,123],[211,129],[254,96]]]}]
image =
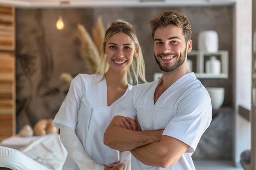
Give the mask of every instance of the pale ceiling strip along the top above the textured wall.
[{"label": "pale ceiling strip along the top above the textured wall", "polygon": [[236,0],[0,0],[12,7],[146,7],[233,4]]}]

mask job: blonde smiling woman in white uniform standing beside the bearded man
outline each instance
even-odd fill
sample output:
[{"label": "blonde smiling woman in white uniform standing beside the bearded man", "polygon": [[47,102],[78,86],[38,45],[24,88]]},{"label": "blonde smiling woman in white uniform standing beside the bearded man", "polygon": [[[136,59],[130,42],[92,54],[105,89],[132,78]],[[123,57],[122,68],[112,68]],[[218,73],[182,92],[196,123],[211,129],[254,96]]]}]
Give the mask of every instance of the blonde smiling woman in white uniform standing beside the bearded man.
[{"label": "blonde smiling woman in white uniform standing beside the bearded man", "polygon": [[132,25],[115,20],[105,33],[98,71],[72,80],[52,123],[68,152],[63,170],[108,170],[119,163],[130,169],[130,152],[104,145],[103,134],[133,80],[146,82],[142,52]]}]

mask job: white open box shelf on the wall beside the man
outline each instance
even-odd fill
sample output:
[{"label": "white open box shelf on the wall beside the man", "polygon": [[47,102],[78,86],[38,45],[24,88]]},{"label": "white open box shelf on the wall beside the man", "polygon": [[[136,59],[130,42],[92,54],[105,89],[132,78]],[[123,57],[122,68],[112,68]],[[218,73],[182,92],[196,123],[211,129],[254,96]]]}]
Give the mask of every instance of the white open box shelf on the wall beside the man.
[{"label": "white open box shelf on the wall beside the man", "polygon": [[[211,74],[211,73],[205,73],[205,61],[207,57],[210,56],[216,56],[220,58],[221,62],[221,73],[220,74]],[[191,51],[188,53],[188,59],[192,59],[193,65],[195,63],[195,76],[197,78],[210,78],[210,79],[227,79],[229,77],[228,71],[229,71],[229,52],[228,51],[218,51],[216,53],[209,53],[204,51]]]}]

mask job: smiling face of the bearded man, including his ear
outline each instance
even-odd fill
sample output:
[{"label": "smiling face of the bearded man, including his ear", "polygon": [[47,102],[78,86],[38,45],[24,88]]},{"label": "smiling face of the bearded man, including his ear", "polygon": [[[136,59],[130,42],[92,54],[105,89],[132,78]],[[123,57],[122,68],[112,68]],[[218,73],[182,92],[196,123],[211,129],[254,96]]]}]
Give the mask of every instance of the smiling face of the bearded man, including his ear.
[{"label": "smiling face of the bearded man, including his ear", "polygon": [[170,24],[159,27],[155,31],[154,55],[160,69],[165,72],[174,71],[186,60],[187,52],[191,51],[191,40],[186,43],[181,28]]}]

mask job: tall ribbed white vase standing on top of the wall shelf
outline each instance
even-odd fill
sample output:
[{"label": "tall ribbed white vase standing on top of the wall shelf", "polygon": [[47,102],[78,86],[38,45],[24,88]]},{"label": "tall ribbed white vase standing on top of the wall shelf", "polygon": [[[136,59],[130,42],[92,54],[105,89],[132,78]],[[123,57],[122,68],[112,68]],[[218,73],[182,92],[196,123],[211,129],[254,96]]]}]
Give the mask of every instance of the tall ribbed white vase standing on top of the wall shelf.
[{"label": "tall ribbed white vase standing on top of the wall shelf", "polygon": [[219,38],[216,31],[201,31],[198,34],[198,50],[216,53],[219,49]]}]

